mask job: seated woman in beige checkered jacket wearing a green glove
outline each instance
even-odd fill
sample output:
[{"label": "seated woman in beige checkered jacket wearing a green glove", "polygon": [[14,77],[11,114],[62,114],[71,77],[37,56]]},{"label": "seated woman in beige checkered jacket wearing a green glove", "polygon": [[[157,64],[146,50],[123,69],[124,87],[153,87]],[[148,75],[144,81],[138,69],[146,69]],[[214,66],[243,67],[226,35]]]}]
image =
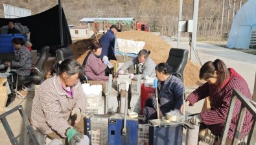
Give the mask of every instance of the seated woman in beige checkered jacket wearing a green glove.
[{"label": "seated woman in beige checkered jacket wearing a green glove", "polygon": [[62,139],[64,144],[75,145],[84,136],[86,94],[79,78],[84,70],[74,59],[56,61],[49,79],[45,80],[32,102],[32,125],[50,139]]}]

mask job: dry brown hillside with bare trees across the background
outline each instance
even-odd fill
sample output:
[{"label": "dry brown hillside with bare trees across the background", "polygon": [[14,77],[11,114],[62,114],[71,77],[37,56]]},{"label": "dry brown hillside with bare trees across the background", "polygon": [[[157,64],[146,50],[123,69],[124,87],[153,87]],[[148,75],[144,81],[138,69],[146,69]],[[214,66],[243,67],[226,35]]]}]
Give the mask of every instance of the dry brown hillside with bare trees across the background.
[{"label": "dry brown hillside with bare trees across the background", "polygon": [[[240,3],[230,3],[225,1],[224,23],[227,22],[227,10],[230,10],[229,27],[235,14],[239,10]],[[58,5],[58,1],[52,0],[1,0],[8,5],[19,6],[32,10],[32,15],[43,12],[52,6]],[[242,5],[246,0],[242,0]],[[134,17],[136,21],[144,21],[150,26],[151,32],[161,32],[163,35],[176,35],[177,17],[180,1],[170,0],[63,0],[67,22],[69,24],[78,24],[83,17]],[[222,3],[223,0],[209,1],[200,0],[198,11],[198,36],[218,36],[220,35],[220,26],[222,21]],[[233,6],[235,4],[235,11]],[[182,19],[192,19],[193,1],[183,0]],[[228,9],[229,8],[229,9]],[[3,5],[0,6],[0,17],[4,17]],[[226,29],[225,29],[226,30]]]}]

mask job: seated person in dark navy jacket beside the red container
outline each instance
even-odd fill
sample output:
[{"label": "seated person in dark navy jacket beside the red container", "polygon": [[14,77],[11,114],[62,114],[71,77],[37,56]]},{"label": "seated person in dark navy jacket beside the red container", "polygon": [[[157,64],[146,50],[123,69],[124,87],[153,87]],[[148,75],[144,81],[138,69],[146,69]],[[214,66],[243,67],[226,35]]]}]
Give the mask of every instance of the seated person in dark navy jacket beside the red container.
[{"label": "seated person in dark navy jacket beside the red container", "polygon": [[[159,63],[156,68],[156,77],[158,79],[157,94],[159,117],[163,117],[170,110],[180,110],[183,103],[183,82],[178,77],[172,75],[172,69],[167,63]],[[152,95],[146,100],[143,108],[143,117],[145,122],[151,119],[157,119],[156,97]]]}]

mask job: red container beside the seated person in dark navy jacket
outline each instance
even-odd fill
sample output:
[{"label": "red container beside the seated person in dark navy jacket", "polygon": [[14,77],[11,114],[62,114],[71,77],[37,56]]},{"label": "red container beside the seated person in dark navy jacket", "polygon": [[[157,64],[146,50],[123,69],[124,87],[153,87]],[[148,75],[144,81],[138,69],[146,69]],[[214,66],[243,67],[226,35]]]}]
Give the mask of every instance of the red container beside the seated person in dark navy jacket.
[{"label": "red container beside the seated person in dark navy jacket", "polygon": [[146,99],[152,97],[153,93],[154,93],[154,88],[145,86],[144,83],[141,85],[141,114],[142,114],[142,109],[145,106]]}]

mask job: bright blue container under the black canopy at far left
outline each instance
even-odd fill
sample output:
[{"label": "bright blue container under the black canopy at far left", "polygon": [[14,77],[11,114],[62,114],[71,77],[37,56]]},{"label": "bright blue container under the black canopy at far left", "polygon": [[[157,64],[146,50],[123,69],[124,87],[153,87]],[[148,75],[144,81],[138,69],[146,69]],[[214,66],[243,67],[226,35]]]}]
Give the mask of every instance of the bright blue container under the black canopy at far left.
[{"label": "bright blue container under the black canopy at far left", "polygon": [[25,43],[27,42],[27,35],[24,34],[0,34],[0,53],[12,53],[14,52],[14,46],[12,46],[12,39],[20,37]]}]

